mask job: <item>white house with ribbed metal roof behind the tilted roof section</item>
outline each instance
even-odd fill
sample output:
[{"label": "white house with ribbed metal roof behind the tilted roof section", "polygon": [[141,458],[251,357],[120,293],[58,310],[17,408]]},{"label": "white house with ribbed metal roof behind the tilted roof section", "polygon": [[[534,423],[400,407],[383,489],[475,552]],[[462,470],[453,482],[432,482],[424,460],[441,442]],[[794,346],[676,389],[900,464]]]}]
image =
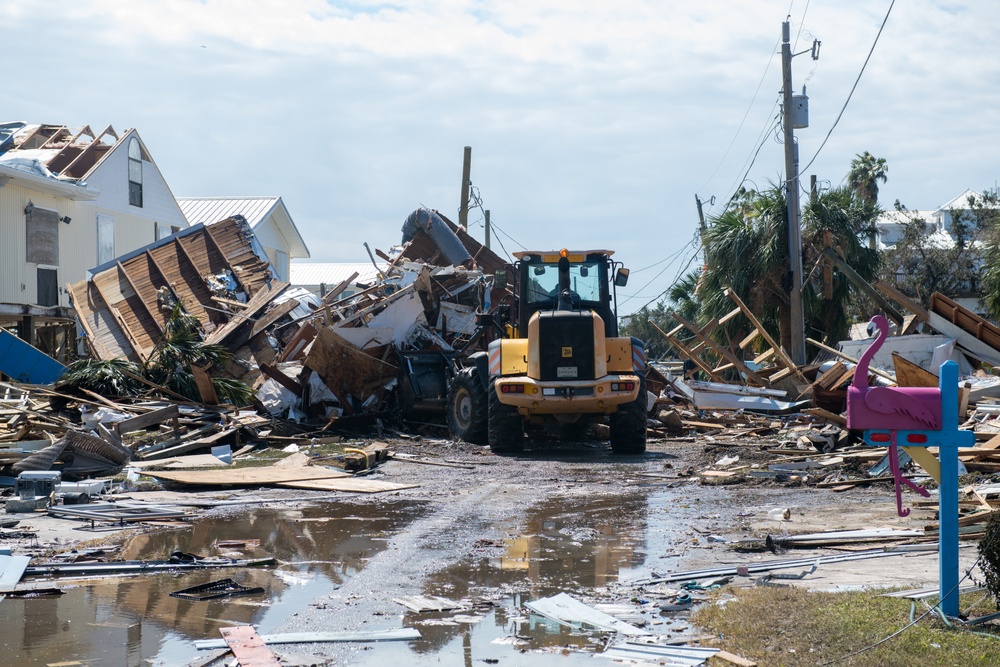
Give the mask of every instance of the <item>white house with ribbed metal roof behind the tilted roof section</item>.
[{"label": "white house with ribbed metal roof behind the tilted roof section", "polygon": [[289,260],[310,257],[281,197],[178,197],[177,203],[192,225],[246,218],[279,280],[289,279]]}]

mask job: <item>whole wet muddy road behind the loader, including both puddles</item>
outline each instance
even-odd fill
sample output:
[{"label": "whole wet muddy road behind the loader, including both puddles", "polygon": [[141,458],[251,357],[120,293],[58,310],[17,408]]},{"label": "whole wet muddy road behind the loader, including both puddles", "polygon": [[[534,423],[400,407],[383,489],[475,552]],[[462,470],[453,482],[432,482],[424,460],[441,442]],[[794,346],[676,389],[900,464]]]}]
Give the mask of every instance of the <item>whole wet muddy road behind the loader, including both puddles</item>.
[{"label": "whole wet muddy road behind the loader, including both puddles", "polygon": [[[266,595],[214,603],[169,597],[218,578],[207,573],[101,582],[67,590],[55,601],[8,600],[0,605],[0,622],[23,631],[5,633],[3,648],[24,665],[75,659],[172,667],[209,664],[212,654],[198,651],[194,640],[218,638],[220,627],[234,624],[253,624],[261,634],[415,628],[419,641],[272,648],[291,665],[583,664],[601,649],[602,637],[529,615],[523,602],[560,592],[589,603],[663,598],[669,590],[628,582],[653,573],[837,553],[737,553],[719,540],[789,530],[920,527],[932,516],[917,510],[896,517],[888,488],[836,494],[794,483],[713,486],[681,476],[725,453],[706,451],[704,443],[651,442],[638,457],[613,457],[598,443],[554,443],[517,458],[440,440],[391,445],[400,454],[446,465],[389,461],[379,479],[418,486],[321,502],[308,499],[329,494],[199,493],[275,502],[217,509],[192,526],[158,529],[132,539],[122,554],[213,553],[218,540],[256,540],[246,555],[274,555],[279,565],[232,576],[265,588]],[[726,451],[748,461],[759,449]],[[769,515],[785,508],[790,520]],[[936,582],[936,568],[933,554],[894,556],[823,567],[804,583],[926,586]],[[468,606],[418,613],[396,602],[418,595]],[[646,620],[657,633],[698,634],[674,614]]]}]

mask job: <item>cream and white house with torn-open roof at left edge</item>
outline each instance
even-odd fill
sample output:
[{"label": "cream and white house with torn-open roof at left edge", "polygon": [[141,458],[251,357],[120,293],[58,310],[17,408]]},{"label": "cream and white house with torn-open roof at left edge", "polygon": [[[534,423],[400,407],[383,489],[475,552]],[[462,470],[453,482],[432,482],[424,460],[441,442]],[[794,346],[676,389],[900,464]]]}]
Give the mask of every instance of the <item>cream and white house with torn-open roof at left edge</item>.
[{"label": "cream and white house with torn-open roof at left edge", "polygon": [[187,227],[134,129],[0,123],[0,326],[70,347],[65,285]]}]

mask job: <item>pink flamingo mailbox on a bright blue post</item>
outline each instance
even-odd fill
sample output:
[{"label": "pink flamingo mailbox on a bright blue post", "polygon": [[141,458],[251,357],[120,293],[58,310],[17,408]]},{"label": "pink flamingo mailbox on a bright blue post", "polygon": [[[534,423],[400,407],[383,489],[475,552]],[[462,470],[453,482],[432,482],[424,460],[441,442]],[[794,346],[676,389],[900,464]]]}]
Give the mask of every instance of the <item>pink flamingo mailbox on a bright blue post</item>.
[{"label": "pink flamingo mailbox on a bright blue post", "polygon": [[903,477],[897,447],[937,447],[941,464],[938,487],[938,564],[942,613],[958,616],[958,448],[972,447],[976,435],[958,429],[958,364],[946,361],[938,373],[938,388],[869,387],[868,366],[889,336],[889,323],[881,315],[868,325],[878,335],[864,351],[847,388],[847,428],[864,430],[872,447],[888,447],[889,468],[896,486],[896,511],[903,509],[902,484],[923,496],[926,489]]}]

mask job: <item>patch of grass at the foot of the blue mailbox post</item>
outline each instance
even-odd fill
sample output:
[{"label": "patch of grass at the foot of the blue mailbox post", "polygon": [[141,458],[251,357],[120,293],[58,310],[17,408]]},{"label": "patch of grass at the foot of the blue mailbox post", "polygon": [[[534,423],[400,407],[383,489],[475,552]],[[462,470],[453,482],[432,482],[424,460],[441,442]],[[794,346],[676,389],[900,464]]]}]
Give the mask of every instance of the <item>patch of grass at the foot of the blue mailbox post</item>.
[{"label": "patch of grass at the foot of the blue mailbox post", "polygon": [[[717,646],[756,661],[762,667],[816,667],[832,663],[851,667],[921,665],[991,667],[1000,661],[1000,634],[991,625],[977,632],[949,628],[927,616],[898,636],[855,656],[845,657],[892,635],[910,622],[910,601],[881,597],[879,591],[810,593],[802,588],[729,588],[735,596],[724,605],[716,593],[698,609],[692,623],[719,637]],[[962,596],[961,609],[982,598]],[[931,600],[930,602],[934,602]],[[917,603],[916,618],[926,608]],[[995,611],[980,603],[972,616]],[[715,661],[718,662],[718,661]]]}]

